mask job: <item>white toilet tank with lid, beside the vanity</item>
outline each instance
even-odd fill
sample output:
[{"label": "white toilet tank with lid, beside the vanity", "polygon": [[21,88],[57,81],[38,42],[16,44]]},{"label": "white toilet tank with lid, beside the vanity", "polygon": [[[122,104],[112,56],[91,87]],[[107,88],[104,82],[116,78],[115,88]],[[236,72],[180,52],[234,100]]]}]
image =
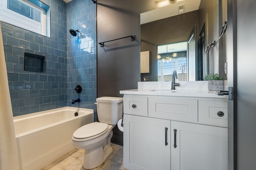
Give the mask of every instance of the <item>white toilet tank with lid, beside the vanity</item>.
[{"label": "white toilet tank with lid, beside the vanity", "polygon": [[96,99],[97,115],[101,123],[116,125],[123,114],[123,98],[101,97]]}]

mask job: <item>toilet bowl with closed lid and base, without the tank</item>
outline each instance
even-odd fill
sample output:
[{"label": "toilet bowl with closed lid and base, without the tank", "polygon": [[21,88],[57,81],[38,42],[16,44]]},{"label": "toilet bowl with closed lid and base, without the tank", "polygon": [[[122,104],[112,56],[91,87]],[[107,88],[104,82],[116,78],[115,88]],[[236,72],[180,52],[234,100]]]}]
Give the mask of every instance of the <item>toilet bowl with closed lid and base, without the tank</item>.
[{"label": "toilet bowl with closed lid and base, without the tank", "polygon": [[[94,127],[96,129],[93,129]],[[84,125],[75,131],[72,137],[72,144],[78,149],[85,150],[83,163],[85,169],[96,168],[112,153],[110,139],[113,135],[113,127],[114,125],[94,122]],[[82,131],[89,131],[89,134],[82,133]]]}]

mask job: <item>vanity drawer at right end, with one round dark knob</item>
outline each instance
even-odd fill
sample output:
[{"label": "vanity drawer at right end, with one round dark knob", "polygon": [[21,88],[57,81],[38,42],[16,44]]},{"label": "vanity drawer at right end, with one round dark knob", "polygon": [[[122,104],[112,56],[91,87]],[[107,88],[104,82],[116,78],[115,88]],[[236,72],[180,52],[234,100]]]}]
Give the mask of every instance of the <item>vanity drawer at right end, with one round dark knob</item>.
[{"label": "vanity drawer at right end, with one round dark knob", "polygon": [[228,102],[198,100],[198,122],[228,127]]}]

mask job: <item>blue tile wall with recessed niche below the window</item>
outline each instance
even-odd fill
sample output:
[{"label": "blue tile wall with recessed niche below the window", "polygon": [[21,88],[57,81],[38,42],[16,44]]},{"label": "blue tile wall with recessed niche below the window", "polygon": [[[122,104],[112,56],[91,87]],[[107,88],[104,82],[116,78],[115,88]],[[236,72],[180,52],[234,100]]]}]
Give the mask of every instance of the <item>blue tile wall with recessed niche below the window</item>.
[{"label": "blue tile wall with recessed niche below the window", "polygon": [[[67,102],[66,3],[42,2],[51,7],[50,38],[1,22],[14,116],[64,107]],[[46,72],[24,71],[24,52],[45,56]]]}]

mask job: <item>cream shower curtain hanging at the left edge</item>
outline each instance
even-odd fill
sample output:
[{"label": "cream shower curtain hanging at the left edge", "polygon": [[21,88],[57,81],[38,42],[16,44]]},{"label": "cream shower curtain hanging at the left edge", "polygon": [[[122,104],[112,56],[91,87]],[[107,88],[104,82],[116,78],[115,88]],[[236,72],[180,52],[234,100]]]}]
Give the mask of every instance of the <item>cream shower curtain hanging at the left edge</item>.
[{"label": "cream shower curtain hanging at the left edge", "polygon": [[0,170],[19,170],[12,105],[0,25]]}]

